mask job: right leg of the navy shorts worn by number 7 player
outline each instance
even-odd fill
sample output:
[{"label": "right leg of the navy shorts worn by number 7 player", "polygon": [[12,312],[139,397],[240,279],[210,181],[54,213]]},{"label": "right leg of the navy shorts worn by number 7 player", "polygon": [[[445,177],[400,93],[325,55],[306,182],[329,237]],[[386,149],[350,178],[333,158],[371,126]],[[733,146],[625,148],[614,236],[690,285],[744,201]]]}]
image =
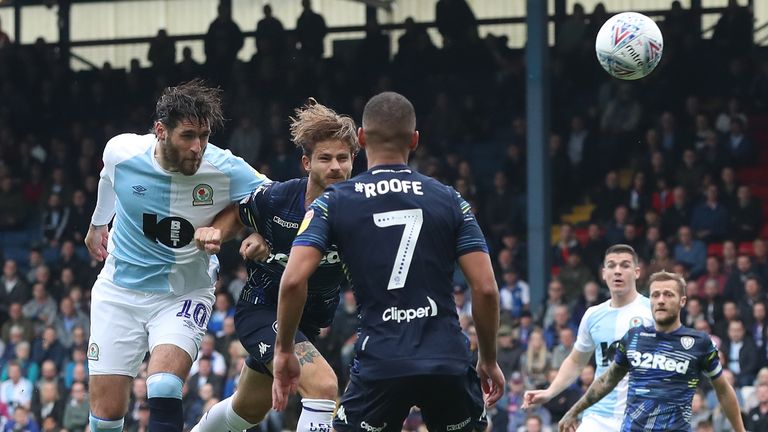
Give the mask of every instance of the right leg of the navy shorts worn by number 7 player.
[{"label": "right leg of the navy shorts worn by number 7 player", "polygon": [[431,431],[485,430],[488,425],[480,378],[474,368],[465,375],[434,375],[419,385],[419,408]]}]

